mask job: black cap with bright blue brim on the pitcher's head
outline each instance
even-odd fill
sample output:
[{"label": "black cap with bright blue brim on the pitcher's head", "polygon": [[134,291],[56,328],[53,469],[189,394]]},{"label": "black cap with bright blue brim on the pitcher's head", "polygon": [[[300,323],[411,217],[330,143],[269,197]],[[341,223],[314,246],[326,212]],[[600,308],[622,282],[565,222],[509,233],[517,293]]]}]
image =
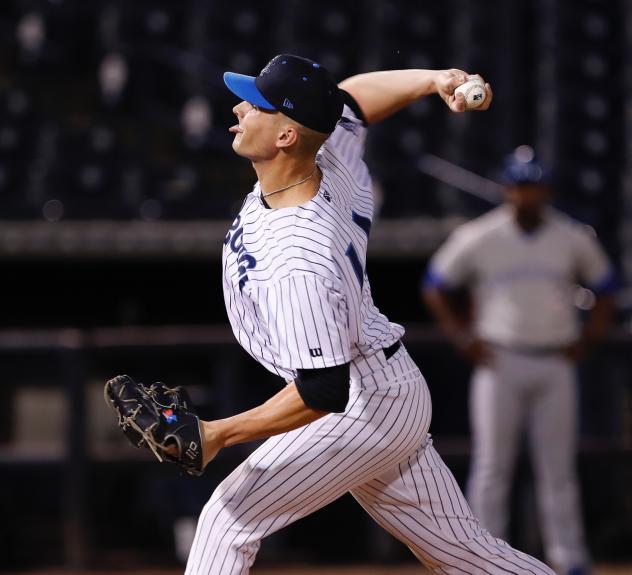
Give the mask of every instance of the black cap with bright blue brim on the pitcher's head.
[{"label": "black cap with bright blue brim on the pitcher's head", "polygon": [[333,132],[342,114],[342,93],[331,74],[307,58],[281,54],[257,77],[225,72],[224,82],[242,100],[317,132]]}]

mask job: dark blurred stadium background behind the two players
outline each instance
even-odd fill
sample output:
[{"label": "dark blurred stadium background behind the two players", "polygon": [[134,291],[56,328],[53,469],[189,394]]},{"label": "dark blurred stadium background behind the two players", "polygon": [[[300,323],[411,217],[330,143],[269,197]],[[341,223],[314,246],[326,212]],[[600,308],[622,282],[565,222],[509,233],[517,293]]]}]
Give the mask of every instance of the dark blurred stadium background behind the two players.
[{"label": "dark blurred stadium background behind the two players", "polygon": [[[428,98],[375,126],[367,149],[374,296],[408,328],[460,482],[469,368],[421,303],[429,256],[489,209],[502,157],[524,143],[553,168],[556,204],[596,229],[623,287],[581,366],[578,463],[595,560],[632,560],[630,2],[5,0],[0,32],[0,570],[178,569],[174,533],[252,449],[181,478],[125,444],[101,388],[116,373],[184,384],[208,417],[278,389],[226,325],[220,247],[254,182],[230,148],[221,74],[256,74],[279,52],[337,79],[454,66],[492,83],[485,114]],[[529,473],[524,460],[512,533],[538,554]],[[301,561],[411,558],[344,498],[260,553]]]}]

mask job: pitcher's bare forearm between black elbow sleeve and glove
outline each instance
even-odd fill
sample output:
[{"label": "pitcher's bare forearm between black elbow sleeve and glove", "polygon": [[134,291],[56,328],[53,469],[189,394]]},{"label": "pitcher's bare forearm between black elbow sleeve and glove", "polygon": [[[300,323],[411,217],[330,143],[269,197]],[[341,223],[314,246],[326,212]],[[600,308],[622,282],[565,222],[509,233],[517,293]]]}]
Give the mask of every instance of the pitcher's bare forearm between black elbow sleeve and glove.
[{"label": "pitcher's bare forearm between black elbow sleeve and glove", "polygon": [[327,415],[305,405],[296,384],[288,383],[261,405],[226,419],[203,421],[204,465],[223,447],[292,431]]}]

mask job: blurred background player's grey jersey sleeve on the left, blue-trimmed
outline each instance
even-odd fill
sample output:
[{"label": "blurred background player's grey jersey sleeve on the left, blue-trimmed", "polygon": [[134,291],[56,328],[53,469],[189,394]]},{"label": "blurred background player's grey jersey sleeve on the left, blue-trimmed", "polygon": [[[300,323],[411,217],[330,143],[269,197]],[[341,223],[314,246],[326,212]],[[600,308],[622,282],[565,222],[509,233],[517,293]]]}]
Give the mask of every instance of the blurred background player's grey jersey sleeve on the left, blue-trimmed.
[{"label": "blurred background player's grey jersey sleeve on the left, blue-trimmed", "polygon": [[424,286],[457,288],[473,276],[474,241],[464,228],[452,232],[430,260]]}]

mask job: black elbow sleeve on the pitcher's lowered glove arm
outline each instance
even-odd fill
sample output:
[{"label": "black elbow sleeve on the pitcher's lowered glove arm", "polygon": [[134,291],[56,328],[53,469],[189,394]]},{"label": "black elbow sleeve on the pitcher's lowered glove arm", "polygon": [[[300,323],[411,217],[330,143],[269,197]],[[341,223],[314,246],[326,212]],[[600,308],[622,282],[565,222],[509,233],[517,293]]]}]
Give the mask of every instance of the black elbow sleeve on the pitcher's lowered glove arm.
[{"label": "black elbow sleeve on the pitcher's lowered glove arm", "polygon": [[333,413],[345,410],[349,401],[349,363],[297,372],[294,383],[307,407]]}]

